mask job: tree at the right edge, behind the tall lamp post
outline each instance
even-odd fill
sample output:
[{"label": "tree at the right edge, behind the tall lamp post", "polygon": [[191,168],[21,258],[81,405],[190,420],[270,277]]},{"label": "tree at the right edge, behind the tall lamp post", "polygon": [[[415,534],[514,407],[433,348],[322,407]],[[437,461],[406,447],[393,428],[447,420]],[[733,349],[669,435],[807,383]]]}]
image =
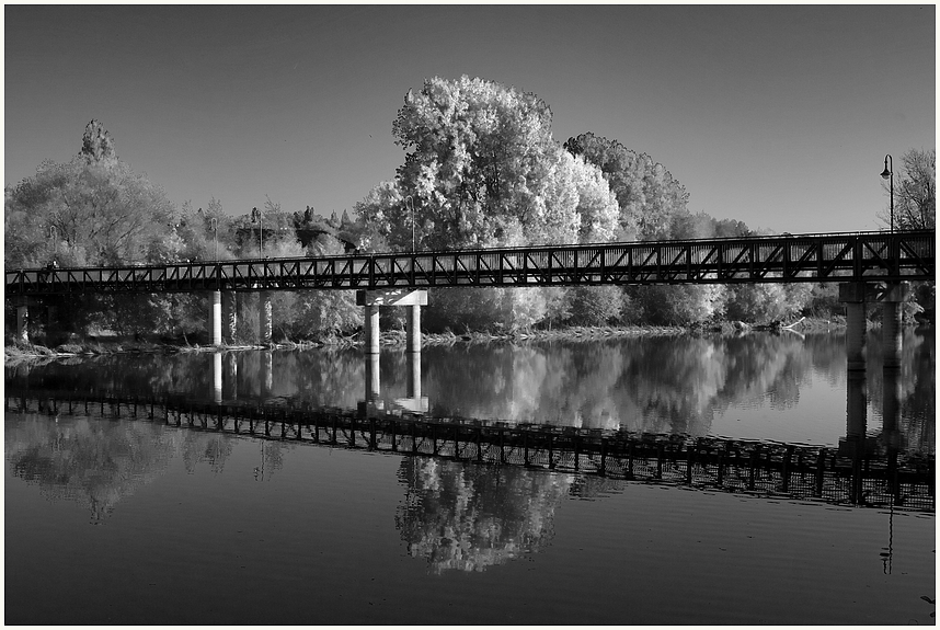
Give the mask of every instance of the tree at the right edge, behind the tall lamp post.
[{"label": "tree at the right edge, behind the tall lamp post", "polygon": [[[894,180],[894,227],[932,230],[937,225],[937,151],[910,149],[901,157]],[[890,182],[883,186],[887,191]],[[889,204],[891,202],[889,201]],[[891,225],[891,207],[880,215]]]}]

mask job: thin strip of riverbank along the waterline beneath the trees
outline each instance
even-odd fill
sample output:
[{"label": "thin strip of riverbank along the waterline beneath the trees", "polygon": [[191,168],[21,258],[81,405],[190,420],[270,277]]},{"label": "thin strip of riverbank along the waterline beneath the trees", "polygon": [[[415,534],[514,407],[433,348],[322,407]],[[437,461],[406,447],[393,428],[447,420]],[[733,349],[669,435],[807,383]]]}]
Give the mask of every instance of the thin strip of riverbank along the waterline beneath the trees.
[{"label": "thin strip of riverbank along the waterline beneath the trees", "polygon": [[[874,324],[869,322],[872,328]],[[454,333],[423,333],[422,345],[454,345],[458,343],[528,343],[538,341],[597,341],[604,339],[616,339],[624,336],[641,335],[681,335],[681,334],[747,334],[760,331],[792,331],[792,332],[826,332],[841,330],[845,327],[845,318],[836,317],[830,320],[803,318],[791,324],[765,324],[755,325],[744,322],[721,322],[696,327],[654,327],[654,325],[623,325],[623,327],[569,327],[561,329],[520,330],[505,333],[473,332]],[[380,343],[382,346],[404,345],[406,333],[403,330],[382,331]],[[362,333],[352,335],[331,335],[316,341],[289,341],[283,340],[268,345],[240,344],[213,346],[190,343],[165,343],[151,342],[135,337],[122,336],[98,336],[85,341],[73,341],[55,347],[46,347],[32,343],[11,343],[7,341],[3,348],[4,363],[19,363],[24,360],[60,359],[68,357],[87,357],[108,354],[127,353],[186,353],[186,352],[215,352],[243,351],[243,350],[312,350],[326,348],[339,350],[356,347],[363,344]]]}]

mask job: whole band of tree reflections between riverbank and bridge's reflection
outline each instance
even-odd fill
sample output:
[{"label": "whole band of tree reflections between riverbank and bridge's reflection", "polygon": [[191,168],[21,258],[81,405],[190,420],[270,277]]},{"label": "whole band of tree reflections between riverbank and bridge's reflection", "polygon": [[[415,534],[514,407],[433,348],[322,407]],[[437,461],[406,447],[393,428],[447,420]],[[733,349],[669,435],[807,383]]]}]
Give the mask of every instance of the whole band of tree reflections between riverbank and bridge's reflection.
[{"label": "whole band of tree reflections between riverbank and bridge's reflection", "polygon": [[[868,339],[868,391],[882,404],[881,331]],[[901,428],[916,439],[933,432],[933,339],[905,331]],[[230,358],[229,358],[230,357]],[[236,382],[228,366],[238,364]],[[15,385],[76,391],[211,392],[211,355],[99,357],[82,369],[59,364],[8,367]],[[844,334],[639,336],[588,343],[457,345],[423,352],[423,393],[432,413],[591,428],[706,435],[729,408],[787,410],[813,379],[846,387]],[[283,398],[354,409],[363,399],[365,365],[355,350],[232,353],[226,399]],[[271,378],[267,378],[268,365]],[[388,394],[405,392],[404,352],[383,353]],[[271,383],[267,387],[266,383]]]}]

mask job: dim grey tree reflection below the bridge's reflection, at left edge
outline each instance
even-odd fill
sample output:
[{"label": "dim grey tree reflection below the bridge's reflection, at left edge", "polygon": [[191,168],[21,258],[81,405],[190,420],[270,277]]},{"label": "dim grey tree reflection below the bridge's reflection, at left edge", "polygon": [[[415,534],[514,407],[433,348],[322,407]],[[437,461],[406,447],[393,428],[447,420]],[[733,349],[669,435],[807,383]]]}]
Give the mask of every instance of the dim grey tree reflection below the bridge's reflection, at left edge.
[{"label": "dim grey tree reflection below the bridge's reflection, at left edge", "polygon": [[191,472],[200,462],[218,472],[233,445],[226,435],[149,422],[19,414],[7,415],[3,442],[14,476],[38,484],[48,499],[88,505],[94,522],[161,476],[174,454]]}]

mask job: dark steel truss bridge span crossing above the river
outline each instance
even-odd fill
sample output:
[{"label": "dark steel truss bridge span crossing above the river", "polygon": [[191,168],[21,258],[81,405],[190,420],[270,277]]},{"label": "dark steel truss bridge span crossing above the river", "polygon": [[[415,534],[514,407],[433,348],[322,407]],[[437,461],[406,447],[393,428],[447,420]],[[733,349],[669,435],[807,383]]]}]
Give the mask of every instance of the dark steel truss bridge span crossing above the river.
[{"label": "dark steel truss bridge span crossing above the river", "polygon": [[7,296],[932,280],[936,232],[784,234],[7,271]]}]

